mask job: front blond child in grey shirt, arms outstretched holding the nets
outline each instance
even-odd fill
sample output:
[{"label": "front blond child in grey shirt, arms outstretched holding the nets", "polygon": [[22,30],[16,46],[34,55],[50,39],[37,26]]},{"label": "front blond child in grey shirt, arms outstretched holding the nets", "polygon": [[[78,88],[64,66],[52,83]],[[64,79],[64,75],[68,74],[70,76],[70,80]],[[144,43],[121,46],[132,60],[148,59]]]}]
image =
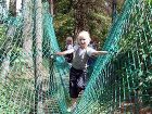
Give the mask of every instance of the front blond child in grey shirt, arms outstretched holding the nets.
[{"label": "front blond child in grey shirt, arms outstretched holding the nets", "polygon": [[78,34],[77,43],[69,50],[56,52],[56,55],[66,55],[73,53],[72,67],[69,69],[69,96],[72,98],[72,106],[67,109],[68,112],[74,111],[78,94],[86,86],[87,61],[89,56],[107,54],[107,51],[97,51],[89,47],[91,41],[88,31],[83,30]]}]

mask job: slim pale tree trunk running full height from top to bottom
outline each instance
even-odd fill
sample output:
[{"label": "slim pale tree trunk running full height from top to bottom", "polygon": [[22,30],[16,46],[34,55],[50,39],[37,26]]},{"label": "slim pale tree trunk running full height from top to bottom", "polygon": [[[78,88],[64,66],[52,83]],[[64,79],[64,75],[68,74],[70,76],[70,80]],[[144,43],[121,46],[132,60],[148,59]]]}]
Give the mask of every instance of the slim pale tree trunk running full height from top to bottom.
[{"label": "slim pale tree trunk running full height from top to bottom", "polygon": [[35,0],[35,112],[37,114],[43,114],[42,112],[42,3],[41,0]]}]

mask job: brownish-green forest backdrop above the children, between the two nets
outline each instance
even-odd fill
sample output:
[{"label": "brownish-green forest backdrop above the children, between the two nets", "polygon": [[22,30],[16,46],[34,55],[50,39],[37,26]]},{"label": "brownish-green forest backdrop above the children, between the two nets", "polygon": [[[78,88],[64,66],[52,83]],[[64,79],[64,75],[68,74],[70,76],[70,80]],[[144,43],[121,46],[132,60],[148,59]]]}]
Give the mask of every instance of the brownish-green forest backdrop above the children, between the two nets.
[{"label": "brownish-green forest backdrop above the children, between the two nets", "polygon": [[[50,0],[52,1],[52,0]],[[60,47],[65,38],[75,40],[80,30],[88,30],[100,49],[104,43],[112,20],[121,13],[125,0],[53,0],[54,29]],[[115,16],[115,17],[114,17]]]}]

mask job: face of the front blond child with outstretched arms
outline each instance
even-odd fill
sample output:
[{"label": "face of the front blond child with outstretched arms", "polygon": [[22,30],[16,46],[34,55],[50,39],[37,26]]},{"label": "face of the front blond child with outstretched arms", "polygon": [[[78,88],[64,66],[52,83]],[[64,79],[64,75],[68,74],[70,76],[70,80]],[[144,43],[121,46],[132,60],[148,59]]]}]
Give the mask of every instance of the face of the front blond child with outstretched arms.
[{"label": "face of the front blond child with outstretched arms", "polygon": [[85,38],[85,37],[79,37],[78,38],[78,43],[83,49],[87,48],[89,42],[90,42],[90,40],[88,38]]}]

